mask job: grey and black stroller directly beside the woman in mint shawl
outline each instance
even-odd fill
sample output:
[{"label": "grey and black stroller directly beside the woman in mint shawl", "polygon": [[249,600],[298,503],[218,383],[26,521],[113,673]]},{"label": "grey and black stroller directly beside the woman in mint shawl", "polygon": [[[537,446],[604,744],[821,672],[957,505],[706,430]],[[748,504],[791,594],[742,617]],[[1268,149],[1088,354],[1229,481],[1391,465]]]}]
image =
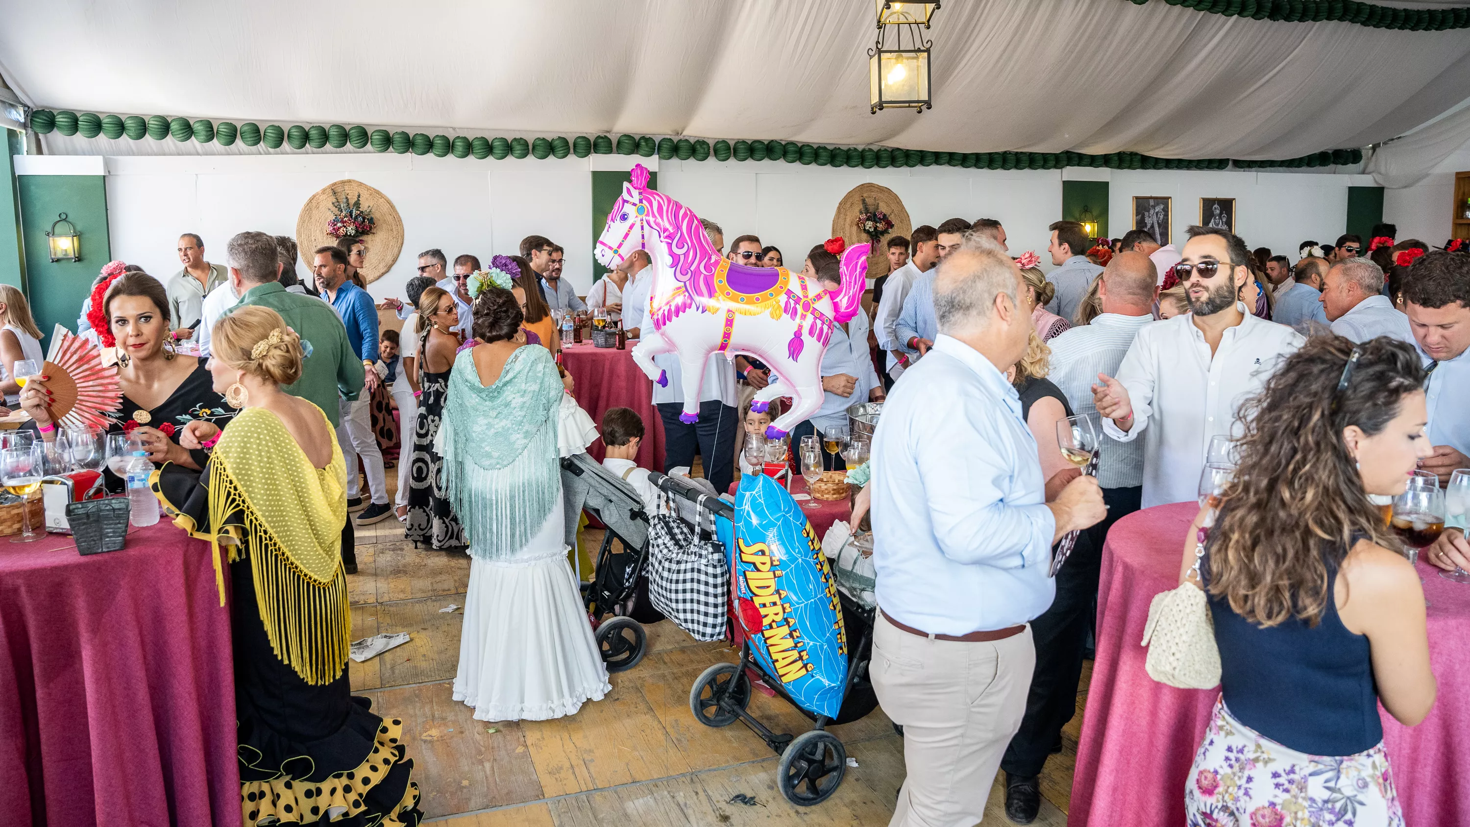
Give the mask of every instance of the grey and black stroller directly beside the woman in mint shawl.
[{"label": "grey and black stroller directly beside the woman in mint shawl", "polygon": [[[653,610],[642,608],[648,605],[644,576],[648,564],[648,514],[642,498],[587,454],[562,460],[562,491],[567,545],[576,543],[578,517],[584,510],[607,526],[597,551],[592,580],[582,583],[582,601],[607,671],[631,670],[648,649],[648,633],[631,615],[637,614],[644,623],[663,618]],[[614,539],[622,542],[623,554],[613,554]],[[614,617],[603,620],[607,614]]]}]

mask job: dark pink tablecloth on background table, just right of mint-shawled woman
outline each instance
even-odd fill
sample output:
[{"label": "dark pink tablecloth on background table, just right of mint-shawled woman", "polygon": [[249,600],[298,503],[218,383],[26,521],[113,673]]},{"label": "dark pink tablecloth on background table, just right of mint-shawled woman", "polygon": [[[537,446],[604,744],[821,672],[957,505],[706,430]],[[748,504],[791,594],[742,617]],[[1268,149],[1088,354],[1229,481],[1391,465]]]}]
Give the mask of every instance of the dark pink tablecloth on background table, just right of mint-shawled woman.
[{"label": "dark pink tablecloth on background table, just right of mint-shawled woman", "polygon": [[[638,449],[638,466],[663,470],[663,420],[653,407],[653,380],[634,364],[632,347],[628,350],[598,348],[592,342],[562,345],[562,366],[575,382],[572,395],[582,410],[598,426],[607,408],[632,408],[644,420],[644,441]],[[603,461],[603,442],[588,445],[587,452]]]}]

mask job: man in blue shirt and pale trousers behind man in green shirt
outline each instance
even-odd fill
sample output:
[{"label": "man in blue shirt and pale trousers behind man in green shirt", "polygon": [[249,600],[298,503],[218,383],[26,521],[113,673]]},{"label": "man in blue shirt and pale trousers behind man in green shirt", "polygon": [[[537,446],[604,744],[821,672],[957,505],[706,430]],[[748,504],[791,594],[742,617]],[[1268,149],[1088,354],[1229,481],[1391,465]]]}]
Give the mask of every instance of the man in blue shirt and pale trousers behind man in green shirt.
[{"label": "man in blue shirt and pale trousers behind man in green shirt", "polygon": [[356,400],[338,401],[341,425],[337,426],[337,444],[347,461],[347,508],[362,508],[362,482],[357,476],[357,457],[363,460],[368,473],[368,488],[372,505],[357,516],[359,526],[387,520],[392,514],[388,505],[388,480],[382,472],[382,451],[372,432],[372,392],[382,378],[378,375],[378,308],[368,291],[347,279],[347,254],[338,247],[318,247],[313,263],[316,286],[322,298],[332,306],[347,328],[347,342],[351,345],[366,370],[363,392]]}]

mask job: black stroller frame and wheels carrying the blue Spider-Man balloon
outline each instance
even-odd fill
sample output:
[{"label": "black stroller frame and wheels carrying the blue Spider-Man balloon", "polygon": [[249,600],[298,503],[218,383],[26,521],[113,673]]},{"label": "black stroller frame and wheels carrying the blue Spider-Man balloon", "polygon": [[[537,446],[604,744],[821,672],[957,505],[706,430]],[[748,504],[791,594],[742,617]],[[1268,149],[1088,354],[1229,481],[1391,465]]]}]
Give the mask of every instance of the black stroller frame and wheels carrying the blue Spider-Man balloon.
[{"label": "black stroller frame and wheels carrying the blue Spider-Man balloon", "polygon": [[[698,501],[701,494],[685,480],[657,473],[650,474],[648,479],[666,494],[688,501]],[[706,508],[714,513],[716,535],[729,554],[735,546],[735,508],[725,501],[707,504]],[[731,570],[735,570],[734,564]],[[856,721],[878,708],[878,693],[867,674],[873,649],[873,620],[878,610],[863,605],[839,586],[842,623],[848,640],[856,640],[857,645],[848,646],[842,705],[835,718],[828,718],[807,711],[785,692],[779,677],[766,674],[764,667],[754,657],[750,640],[744,639],[741,633],[741,623],[735,617],[735,593],[736,589],[732,583],[729,635],[731,642],[741,648],[739,662],[714,664],[704,670],[689,689],[689,711],[694,712],[695,720],[707,727],[725,727],[736,720],[744,721],[770,749],[781,755],[781,764],[776,770],[776,786],[781,789],[781,795],[800,806],[820,803],[836,792],[847,771],[847,749],[836,736],[826,732],[826,727]],[[756,720],[745,708],[750,705],[757,680],[803,715],[811,718],[814,723],[811,730],[798,736],[776,733]]]}]

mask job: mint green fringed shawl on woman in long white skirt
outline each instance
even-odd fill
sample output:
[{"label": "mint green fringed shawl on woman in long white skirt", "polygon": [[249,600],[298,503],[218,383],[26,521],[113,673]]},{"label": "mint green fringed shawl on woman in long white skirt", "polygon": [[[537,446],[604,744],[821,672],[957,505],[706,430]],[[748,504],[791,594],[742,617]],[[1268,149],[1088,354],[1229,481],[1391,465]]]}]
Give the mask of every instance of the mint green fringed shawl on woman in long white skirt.
[{"label": "mint green fringed shawl on woman in long white skirt", "polygon": [[526,345],[485,388],[472,353],[460,353],[450,373],[440,426],[444,488],[470,557],[504,561],[531,542],[551,508],[562,507],[562,378],[547,348]]}]

